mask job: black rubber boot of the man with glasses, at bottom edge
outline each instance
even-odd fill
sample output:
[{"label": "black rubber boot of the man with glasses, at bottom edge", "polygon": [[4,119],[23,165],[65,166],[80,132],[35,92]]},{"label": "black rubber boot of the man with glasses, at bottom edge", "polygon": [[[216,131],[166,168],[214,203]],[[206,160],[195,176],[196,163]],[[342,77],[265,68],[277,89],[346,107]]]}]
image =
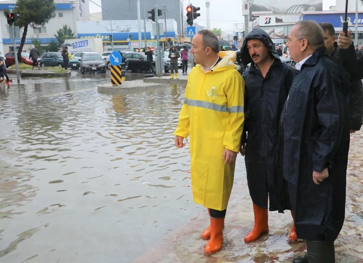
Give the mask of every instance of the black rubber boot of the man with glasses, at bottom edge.
[{"label": "black rubber boot of the man with glasses, at bottom edge", "polygon": [[308,263],[334,263],[334,241],[306,240]]}]

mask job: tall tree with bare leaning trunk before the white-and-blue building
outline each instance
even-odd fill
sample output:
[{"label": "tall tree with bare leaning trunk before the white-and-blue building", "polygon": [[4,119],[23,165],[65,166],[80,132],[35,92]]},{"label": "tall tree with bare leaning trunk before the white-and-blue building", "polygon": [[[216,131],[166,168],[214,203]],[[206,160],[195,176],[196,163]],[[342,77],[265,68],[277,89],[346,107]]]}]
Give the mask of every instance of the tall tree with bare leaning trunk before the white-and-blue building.
[{"label": "tall tree with bare leaning trunk before the white-and-blue building", "polygon": [[[6,15],[8,10],[4,10]],[[17,0],[13,13],[19,14],[16,18],[15,26],[23,27],[19,50],[17,51],[17,60],[21,62],[21,51],[25,43],[27,28],[41,26],[55,17],[54,0]]]}]

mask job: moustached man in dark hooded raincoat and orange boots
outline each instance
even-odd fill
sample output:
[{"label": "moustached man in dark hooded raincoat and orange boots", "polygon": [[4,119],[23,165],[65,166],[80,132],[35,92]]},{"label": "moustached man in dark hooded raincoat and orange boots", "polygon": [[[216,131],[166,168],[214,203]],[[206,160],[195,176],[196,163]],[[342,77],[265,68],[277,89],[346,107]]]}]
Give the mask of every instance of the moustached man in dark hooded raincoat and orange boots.
[{"label": "moustached man in dark hooded raincoat and orange boots", "polygon": [[[252,242],[268,230],[267,199],[269,210],[280,212],[288,207],[276,202],[274,178],[277,166],[278,124],[283,104],[292,83],[293,69],[282,62],[268,34],[253,29],[245,37],[241,49],[243,64],[251,63],[244,73],[245,124],[241,140],[249,194],[253,202],[254,227],[244,241]],[[248,133],[245,139],[246,131]],[[296,240],[292,227],[290,240]]]}]

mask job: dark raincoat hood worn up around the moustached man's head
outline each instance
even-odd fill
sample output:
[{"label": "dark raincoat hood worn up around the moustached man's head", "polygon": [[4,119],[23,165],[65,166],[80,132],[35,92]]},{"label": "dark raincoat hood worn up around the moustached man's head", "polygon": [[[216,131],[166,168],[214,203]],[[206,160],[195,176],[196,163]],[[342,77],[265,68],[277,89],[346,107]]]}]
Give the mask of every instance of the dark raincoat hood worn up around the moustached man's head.
[{"label": "dark raincoat hood worn up around the moustached man's head", "polygon": [[242,58],[242,61],[244,64],[253,63],[253,60],[252,60],[251,56],[249,55],[249,52],[247,49],[247,41],[252,38],[261,40],[267,46],[267,48],[270,50],[271,54],[275,58],[280,59],[280,57],[277,53],[276,47],[275,47],[274,43],[272,42],[271,38],[266,33],[266,31],[264,31],[260,28],[255,28],[252,31],[250,31],[243,40],[243,44],[242,44],[242,48],[241,48],[241,58]]}]

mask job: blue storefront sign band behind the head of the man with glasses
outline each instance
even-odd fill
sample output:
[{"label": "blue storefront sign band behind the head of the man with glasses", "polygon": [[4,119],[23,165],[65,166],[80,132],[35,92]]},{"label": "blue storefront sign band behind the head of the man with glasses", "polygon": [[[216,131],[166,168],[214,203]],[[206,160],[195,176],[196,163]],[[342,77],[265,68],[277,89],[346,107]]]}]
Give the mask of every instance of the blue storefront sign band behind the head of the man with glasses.
[{"label": "blue storefront sign band behind the head of the man with glasses", "polygon": [[[300,20],[314,20],[318,23],[329,22],[334,26],[335,31],[338,31],[342,30],[344,13],[302,12]],[[358,21],[358,32],[363,32],[363,13],[358,13],[357,21]],[[354,26],[355,26],[355,13],[348,13],[348,27],[352,31],[354,31]]]}]

